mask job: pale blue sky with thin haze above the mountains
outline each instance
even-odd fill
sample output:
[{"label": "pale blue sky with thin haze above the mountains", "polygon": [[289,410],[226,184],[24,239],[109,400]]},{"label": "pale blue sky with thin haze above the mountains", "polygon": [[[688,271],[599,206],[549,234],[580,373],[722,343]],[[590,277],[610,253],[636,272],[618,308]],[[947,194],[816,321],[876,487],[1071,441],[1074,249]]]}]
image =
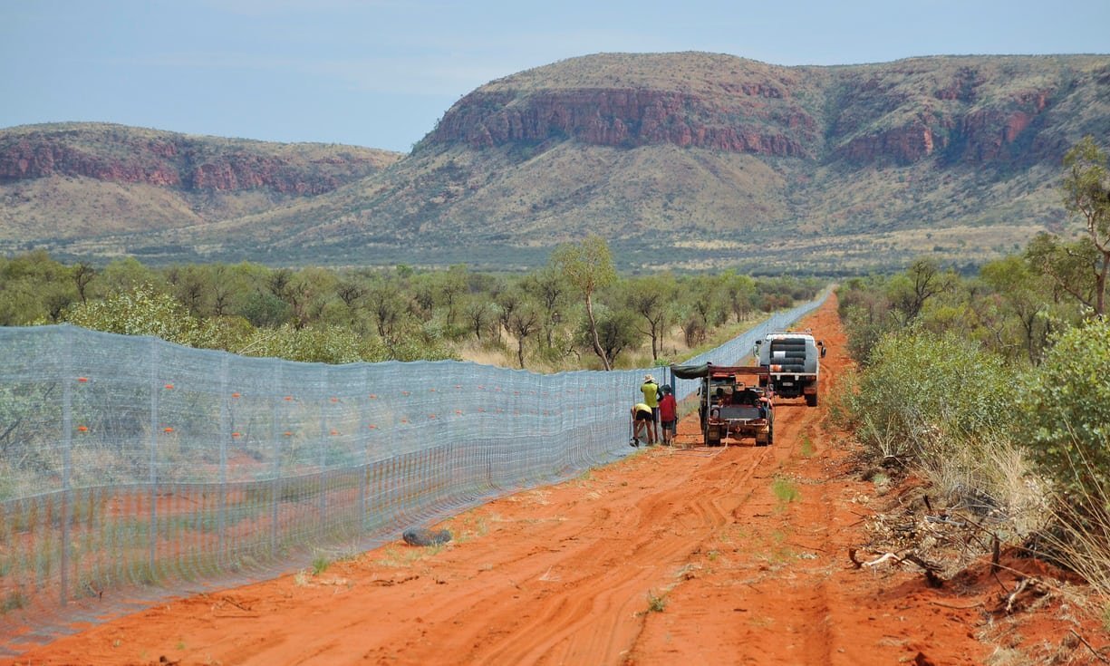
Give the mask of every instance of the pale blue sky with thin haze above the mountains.
[{"label": "pale blue sky with thin haze above the mountains", "polygon": [[785,65],[1108,53],[1110,0],[0,0],[0,128],[407,151],[487,81],[610,51]]}]

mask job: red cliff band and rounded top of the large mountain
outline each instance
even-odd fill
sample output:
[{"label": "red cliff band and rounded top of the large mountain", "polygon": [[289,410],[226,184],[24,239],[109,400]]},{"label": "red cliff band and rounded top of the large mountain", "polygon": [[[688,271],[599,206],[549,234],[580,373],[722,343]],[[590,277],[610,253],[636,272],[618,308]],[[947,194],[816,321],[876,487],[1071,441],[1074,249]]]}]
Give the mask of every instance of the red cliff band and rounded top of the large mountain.
[{"label": "red cliff band and rounded top of the large mountain", "polygon": [[[615,85],[605,57],[556,63],[482,87],[455,103],[421,148],[484,149],[574,140],[634,148],[675,144],[820,163],[910,164],[932,157],[977,165],[1056,160],[1042,119],[1106,63],[1046,57],[920,58],[880,65],[754,68],[674,54],[683,79]],[[591,63],[594,69],[591,69]],[[627,62],[622,61],[627,67]],[[585,73],[583,73],[585,72]],[[577,75],[582,84],[574,84]],[[558,81],[545,88],[544,79]],[[571,82],[567,82],[567,80]],[[638,82],[637,82],[638,83]],[[1051,148],[1050,148],[1051,147]]]}]

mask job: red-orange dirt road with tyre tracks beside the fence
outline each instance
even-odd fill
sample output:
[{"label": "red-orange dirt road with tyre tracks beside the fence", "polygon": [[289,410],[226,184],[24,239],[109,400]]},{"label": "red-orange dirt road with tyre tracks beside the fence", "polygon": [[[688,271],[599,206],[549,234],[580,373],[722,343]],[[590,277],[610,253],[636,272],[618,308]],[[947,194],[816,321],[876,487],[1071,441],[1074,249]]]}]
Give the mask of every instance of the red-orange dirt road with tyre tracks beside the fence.
[{"label": "red-orange dirt road with tyre tracks beside the fence", "polygon": [[[848,364],[835,300],[806,325],[830,349],[827,392]],[[450,545],[398,541],[8,663],[855,666],[997,653],[982,640],[1001,635],[985,633],[993,583],[934,589],[920,572],[851,565],[875,486],[849,474],[847,438],[824,406],[776,410],[769,447],[694,446],[695,414],[679,431],[689,448],[645,450],[472,509],[442,525]],[[1041,629],[1063,637],[1059,623]]]}]

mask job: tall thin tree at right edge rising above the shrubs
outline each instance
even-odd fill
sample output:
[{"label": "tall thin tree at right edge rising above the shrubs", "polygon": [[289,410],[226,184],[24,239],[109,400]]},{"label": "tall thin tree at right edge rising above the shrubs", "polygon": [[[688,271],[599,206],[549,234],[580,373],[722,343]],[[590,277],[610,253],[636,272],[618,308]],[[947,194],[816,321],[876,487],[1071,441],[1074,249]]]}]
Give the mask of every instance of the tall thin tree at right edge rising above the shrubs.
[{"label": "tall thin tree at right edge rising above the shrubs", "polygon": [[1063,205],[1082,218],[1087,238],[1097,253],[1091,263],[1094,275],[1094,314],[1106,313],[1107,276],[1110,275],[1110,172],[1107,154],[1090,135],[1063,157]]}]

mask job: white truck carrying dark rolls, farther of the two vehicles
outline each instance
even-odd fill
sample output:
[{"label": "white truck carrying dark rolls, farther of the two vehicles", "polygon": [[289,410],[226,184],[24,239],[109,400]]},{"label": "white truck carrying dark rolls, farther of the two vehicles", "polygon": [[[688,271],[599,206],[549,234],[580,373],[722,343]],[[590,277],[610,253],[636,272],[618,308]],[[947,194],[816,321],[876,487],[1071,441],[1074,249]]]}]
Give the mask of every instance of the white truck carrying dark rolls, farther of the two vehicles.
[{"label": "white truck carrying dark rolls, farther of the two vehicles", "polygon": [[768,370],[764,387],[778,397],[805,397],[810,407],[817,406],[817,381],[820,379],[825,343],[804,333],[786,331],[768,333],[756,341],[756,359]]}]

